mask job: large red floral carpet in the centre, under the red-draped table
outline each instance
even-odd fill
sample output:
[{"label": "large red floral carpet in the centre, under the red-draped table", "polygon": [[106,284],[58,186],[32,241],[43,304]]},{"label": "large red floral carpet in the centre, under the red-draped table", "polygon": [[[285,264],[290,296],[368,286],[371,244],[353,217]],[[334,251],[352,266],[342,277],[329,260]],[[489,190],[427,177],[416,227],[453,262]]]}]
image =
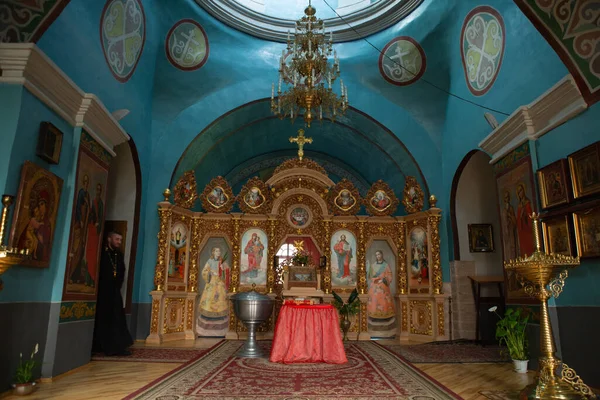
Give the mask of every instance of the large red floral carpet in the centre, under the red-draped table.
[{"label": "large red floral carpet in the centre, under the red-draped table", "polygon": [[[346,364],[279,364],[238,358],[241,341],[223,341],[132,393],[126,400],[460,399],[410,363],[373,342],[346,343]],[[270,341],[259,345],[268,354]]]}]

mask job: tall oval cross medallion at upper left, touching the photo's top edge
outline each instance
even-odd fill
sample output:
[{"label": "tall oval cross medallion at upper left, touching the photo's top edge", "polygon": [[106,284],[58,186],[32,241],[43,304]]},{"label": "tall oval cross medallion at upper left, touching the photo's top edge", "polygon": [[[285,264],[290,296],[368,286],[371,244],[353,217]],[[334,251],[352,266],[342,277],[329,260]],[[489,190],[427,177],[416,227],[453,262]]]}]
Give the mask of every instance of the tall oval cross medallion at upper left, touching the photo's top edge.
[{"label": "tall oval cross medallion at upper left, touching the photo's top edge", "polygon": [[118,81],[127,82],[146,40],[146,17],[140,0],[108,0],[100,19],[100,39],[110,71]]}]

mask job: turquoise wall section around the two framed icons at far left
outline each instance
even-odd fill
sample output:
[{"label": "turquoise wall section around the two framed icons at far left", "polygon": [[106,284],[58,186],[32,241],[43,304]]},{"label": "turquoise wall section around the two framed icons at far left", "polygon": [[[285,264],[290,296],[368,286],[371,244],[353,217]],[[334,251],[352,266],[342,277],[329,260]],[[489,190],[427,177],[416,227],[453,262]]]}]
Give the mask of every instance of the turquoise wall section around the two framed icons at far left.
[{"label": "turquoise wall section around the two framed icons at far left", "polygon": [[[20,85],[15,85],[15,87],[21,88]],[[19,97],[21,97],[21,102],[18,102]],[[73,186],[69,184],[68,180],[77,158],[78,136],[81,129],[70,126],[26,89],[23,89],[22,95],[16,95],[13,100],[20,106],[20,113],[17,113],[19,116],[18,127],[16,135],[14,135],[14,143],[10,148],[9,168],[6,171],[0,171],[1,176],[6,176],[4,193],[17,195],[21,179],[21,167],[26,160],[63,179],[63,187],[60,203],[58,204],[50,267],[16,266],[9,269],[2,275],[4,290],[0,292],[0,302],[60,301],[66,266],[68,230],[71,221],[69,204],[72,204],[73,197]],[[40,122],[42,121],[51,122],[63,132],[62,151],[58,165],[51,165],[35,155],[35,146]],[[7,138],[9,137],[7,136]],[[12,211],[9,220],[11,227],[14,205]]]}]

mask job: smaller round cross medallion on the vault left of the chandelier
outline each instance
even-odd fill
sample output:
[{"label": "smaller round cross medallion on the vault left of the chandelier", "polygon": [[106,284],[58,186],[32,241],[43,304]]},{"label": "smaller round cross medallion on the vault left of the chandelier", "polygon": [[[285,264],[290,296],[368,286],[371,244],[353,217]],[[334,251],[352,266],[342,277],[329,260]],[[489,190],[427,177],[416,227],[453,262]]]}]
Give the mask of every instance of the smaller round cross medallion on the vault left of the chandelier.
[{"label": "smaller round cross medallion on the vault left of the chandelier", "polygon": [[208,38],[196,21],[183,19],[177,22],[165,42],[167,58],[184,71],[192,71],[204,65],[208,59]]}]

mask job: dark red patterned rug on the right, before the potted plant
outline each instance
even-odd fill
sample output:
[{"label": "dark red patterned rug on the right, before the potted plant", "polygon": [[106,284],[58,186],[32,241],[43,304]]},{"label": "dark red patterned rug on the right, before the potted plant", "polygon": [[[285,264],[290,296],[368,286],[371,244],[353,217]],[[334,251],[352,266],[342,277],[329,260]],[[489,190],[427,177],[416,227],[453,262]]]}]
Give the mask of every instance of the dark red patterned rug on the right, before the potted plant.
[{"label": "dark red patterned rug on the right, before the potted plant", "polygon": [[510,362],[502,347],[482,346],[472,341],[434,342],[416,345],[385,345],[411,363],[503,363]]}]

